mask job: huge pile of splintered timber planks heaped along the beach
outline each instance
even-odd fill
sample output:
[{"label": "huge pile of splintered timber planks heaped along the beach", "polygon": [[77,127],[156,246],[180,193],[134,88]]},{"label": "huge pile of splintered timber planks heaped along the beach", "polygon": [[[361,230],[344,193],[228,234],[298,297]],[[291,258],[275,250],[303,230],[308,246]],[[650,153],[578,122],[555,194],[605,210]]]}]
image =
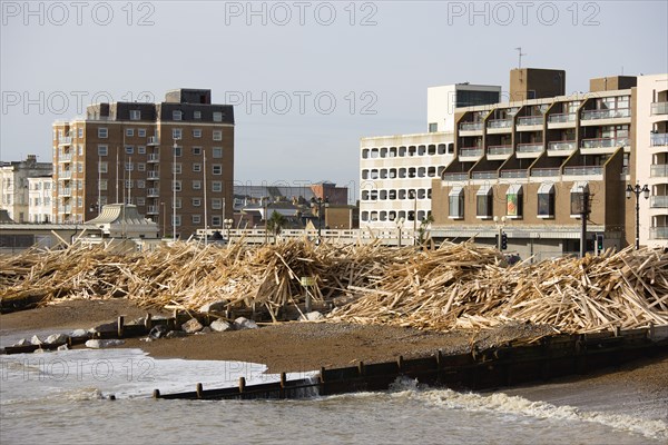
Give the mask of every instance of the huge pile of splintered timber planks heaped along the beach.
[{"label": "huge pile of splintered timber planks heaped along the beach", "polygon": [[415,251],[306,240],[177,243],[127,255],[70,246],[0,256],[0,301],[125,296],[145,307],[197,310],[224,300],[276,319],[282,307],[303,303],[302,277],[315,278],[315,301],[348,301],[327,322],[435,330],[529,322],[571,333],[668,324],[668,254],[631,248],[508,267],[497,250],[471,244]]}]

